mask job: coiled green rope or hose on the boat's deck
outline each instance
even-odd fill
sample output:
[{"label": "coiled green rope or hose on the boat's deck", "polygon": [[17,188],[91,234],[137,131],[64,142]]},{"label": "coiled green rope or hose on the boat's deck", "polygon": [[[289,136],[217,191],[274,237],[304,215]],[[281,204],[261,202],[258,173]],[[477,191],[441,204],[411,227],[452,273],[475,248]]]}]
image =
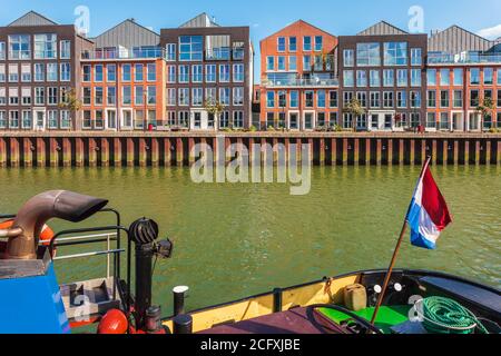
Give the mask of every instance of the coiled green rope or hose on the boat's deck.
[{"label": "coiled green rope or hose on the boat's deck", "polygon": [[432,334],[473,334],[475,328],[489,334],[480,320],[455,300],[430,297],[422,300],[423,326]]}]

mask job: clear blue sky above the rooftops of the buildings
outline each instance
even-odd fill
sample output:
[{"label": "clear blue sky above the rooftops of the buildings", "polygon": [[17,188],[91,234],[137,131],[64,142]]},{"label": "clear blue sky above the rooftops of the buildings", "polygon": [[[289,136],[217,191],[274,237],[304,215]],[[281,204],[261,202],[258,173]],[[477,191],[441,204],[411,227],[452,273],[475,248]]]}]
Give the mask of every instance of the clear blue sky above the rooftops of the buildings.
[{"label": "clear blue sky above the rooftops of the buildings", "polygon": [[355,34],[380,20],[407,30],[412,6],[423,9],[428,33],[459,24],[475,33],[483,30],[480,33],[484,36],[501,37],[500,0],[0,0],[0,23],[7,24],[29,10],[59,23],[73,23],[78,6],[90,10],[90,36],[127,18],[158,31],[178,27],[205,11],[223,26],[250,26],[256,58],[261,39],[298,19],[333,34]]}]

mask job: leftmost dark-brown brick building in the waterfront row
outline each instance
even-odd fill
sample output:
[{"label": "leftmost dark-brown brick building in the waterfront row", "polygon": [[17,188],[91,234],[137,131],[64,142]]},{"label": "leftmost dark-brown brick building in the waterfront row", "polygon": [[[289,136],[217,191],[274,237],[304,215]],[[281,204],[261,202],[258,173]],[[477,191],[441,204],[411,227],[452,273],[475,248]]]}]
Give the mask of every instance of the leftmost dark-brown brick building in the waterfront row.
[{"label": "leftmost dark-brown brick building in the waterfront row", "polygon": [[60,103],[81,95],[80,52],[91,47],[72,24],[32,11],[0,28],[0,129],[79,129]]}]

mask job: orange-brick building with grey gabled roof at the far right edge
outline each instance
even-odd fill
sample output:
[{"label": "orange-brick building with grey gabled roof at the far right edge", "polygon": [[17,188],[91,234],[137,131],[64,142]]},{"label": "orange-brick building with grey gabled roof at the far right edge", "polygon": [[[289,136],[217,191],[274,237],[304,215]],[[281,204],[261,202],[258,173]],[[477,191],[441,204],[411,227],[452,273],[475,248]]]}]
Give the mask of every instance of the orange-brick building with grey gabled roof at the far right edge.
[{"label": "orange-brick building with grey gabled roof at the far right edge", "polygon": [[[481,131],[501,128],[501,48],[458,26],[429,39],[426,130]],[[491,98],[484,118],[479,103]]]}]

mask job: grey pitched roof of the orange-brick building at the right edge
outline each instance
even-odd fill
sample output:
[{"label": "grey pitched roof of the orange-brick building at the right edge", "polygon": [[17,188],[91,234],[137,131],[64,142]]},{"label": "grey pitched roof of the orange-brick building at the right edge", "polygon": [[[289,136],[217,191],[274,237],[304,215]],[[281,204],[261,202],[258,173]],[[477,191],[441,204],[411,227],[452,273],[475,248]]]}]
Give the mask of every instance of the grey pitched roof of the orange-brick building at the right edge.
[{"label": "grey pitched roof of the orange-brick building at the right edge", "polygon": [[428,40],[428,50],[431,52],[460,53],[465,51],[487,51],[494,43],[470,32],[456,24],[446,30],[434,33]]}]

